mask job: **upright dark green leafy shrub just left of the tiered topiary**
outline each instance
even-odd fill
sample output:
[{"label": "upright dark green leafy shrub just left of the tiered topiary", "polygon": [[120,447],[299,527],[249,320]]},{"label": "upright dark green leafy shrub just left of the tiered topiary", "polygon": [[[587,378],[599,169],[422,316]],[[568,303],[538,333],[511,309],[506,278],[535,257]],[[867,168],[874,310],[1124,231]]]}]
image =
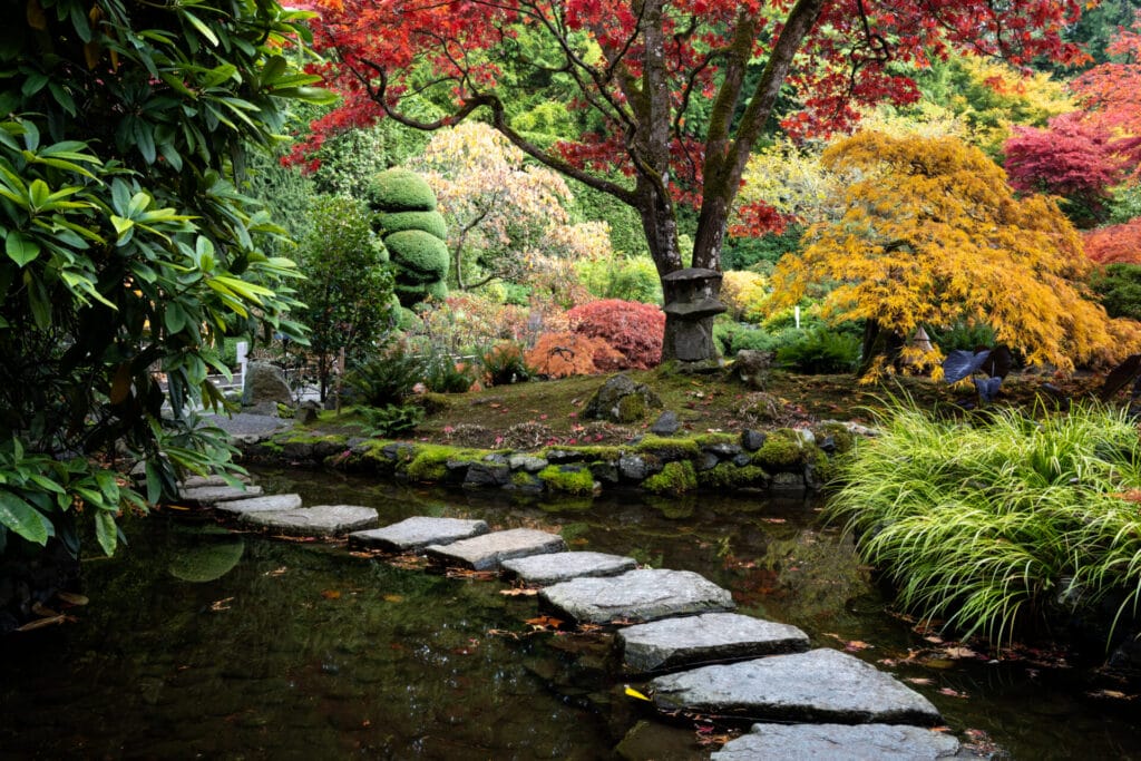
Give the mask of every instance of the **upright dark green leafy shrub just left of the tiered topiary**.
[{"label": "upright dark green leafy shrub just left of the tiered topiary", "polygon": [[363,203],[318,197],[313,204],[313,232],[301,243],[307,280],[298,285],[306,303],[300,314],[310,330],[322,400],[340,350],[345,349],[349,366],[357,364],[390,322],[393,273],[381,261],[369,222]]}]

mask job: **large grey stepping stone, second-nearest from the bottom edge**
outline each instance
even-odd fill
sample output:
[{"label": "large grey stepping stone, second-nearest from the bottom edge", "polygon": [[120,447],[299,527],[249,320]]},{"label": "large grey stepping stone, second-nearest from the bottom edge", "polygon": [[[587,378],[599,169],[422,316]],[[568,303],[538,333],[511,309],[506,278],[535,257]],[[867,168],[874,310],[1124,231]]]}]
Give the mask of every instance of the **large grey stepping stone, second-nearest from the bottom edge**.
[{"label": "large grey stepping stone, second-nearest from the bottom edge", "polygon": [[764,721],[934,726],[939,712],[913,689],[859,658],[822,648],[702,666],[649,682],[654,703]]}]

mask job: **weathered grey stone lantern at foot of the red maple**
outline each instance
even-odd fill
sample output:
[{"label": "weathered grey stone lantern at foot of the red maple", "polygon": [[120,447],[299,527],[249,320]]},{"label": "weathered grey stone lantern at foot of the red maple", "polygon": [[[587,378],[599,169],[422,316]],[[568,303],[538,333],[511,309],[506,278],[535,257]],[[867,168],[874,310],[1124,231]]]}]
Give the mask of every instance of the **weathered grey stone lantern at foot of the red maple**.
[{"label": "weathered grey stone lantern at foot of the red maple", "polygon": [[[713,317],[726,310],[717,294],[721,290],[721,273],[715,269],[689,267],[662,277],[665,311],[674,321],[662,347],[663,359],[707,362],[717,359],[713,345]],[[672,339],[672,340],[671,340]]]}]

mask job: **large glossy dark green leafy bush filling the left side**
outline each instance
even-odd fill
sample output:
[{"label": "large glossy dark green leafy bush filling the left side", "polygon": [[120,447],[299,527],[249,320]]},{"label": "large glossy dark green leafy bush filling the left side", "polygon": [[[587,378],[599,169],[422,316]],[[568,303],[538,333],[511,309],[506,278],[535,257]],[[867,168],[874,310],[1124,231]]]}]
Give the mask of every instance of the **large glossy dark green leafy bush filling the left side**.
[{"label": "large glossy dark green leafy bush filling the left side", "polygon": [[215,6],[6,6],[0,545],[43,544],[82,505],[112,552],[115,516],[145,505],[99,458],[146,459],[152,501],[176,469],[224,467],[226,436],[184,413],[220,403],[219,343],[302,334],[284,319],[293,265],[266,256],[284,230],[238,186],[289,100],[329,97],[291,63],[304,14]]}]

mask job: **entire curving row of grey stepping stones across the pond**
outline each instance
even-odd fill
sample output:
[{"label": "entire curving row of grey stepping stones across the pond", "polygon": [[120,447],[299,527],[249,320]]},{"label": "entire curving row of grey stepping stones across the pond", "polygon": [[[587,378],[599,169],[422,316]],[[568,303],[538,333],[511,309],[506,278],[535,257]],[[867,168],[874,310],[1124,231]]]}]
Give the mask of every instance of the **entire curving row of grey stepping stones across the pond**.
[{"label": "entire curving row of grey stepping stones across the pond", "polygon": [[558,534],[489,531],[483,520],[415,517],[378,528],[372,508],[306,508],[296,494],[264,496],[257,486],[188,483],[180,497],[277,534],[347,535],[350,547],[415,552],[542,586],[541,608],[616,629],[615,677],[648,679],[639,689],[664,714],[758,722],[711,761],[970,758],[955,737],[929,729],[942,719],[922,695],[855,656],[808,650],[795,626],[733,613],[729,592],[693,572],[568,552]]}]

